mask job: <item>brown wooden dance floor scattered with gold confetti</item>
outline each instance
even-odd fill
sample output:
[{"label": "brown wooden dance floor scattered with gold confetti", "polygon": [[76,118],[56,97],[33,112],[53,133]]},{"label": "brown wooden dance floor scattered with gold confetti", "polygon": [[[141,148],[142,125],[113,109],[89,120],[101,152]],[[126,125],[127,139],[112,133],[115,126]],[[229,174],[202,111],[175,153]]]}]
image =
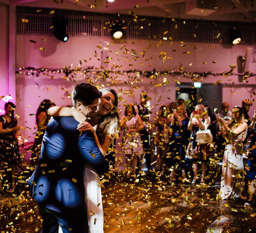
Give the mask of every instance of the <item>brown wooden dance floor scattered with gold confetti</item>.
[{"label": "brown wooden dance floor scattered with gold confetti", "polygon": [[[218,187],[111,176],[102,188],[104,232],[256,232],[255,207],[216,200]],[[22,185],[1,193],[1,233],[41,231],[36,202]]]}]

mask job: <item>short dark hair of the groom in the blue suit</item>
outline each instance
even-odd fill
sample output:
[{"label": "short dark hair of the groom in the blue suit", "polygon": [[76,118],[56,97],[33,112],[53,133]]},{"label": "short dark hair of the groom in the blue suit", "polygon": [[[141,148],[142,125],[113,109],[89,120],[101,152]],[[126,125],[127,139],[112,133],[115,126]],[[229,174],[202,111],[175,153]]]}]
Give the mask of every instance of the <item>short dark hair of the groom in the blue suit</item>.
[{"label": "short dark hair of the groom in the blue suit", "polygon": [[80,83],[72,91],[73,107],[76,107],[77,102],[81,102],[85,106],[91,105],[95,99],[101,96],[102,93],[95,86],[89,83]]}]

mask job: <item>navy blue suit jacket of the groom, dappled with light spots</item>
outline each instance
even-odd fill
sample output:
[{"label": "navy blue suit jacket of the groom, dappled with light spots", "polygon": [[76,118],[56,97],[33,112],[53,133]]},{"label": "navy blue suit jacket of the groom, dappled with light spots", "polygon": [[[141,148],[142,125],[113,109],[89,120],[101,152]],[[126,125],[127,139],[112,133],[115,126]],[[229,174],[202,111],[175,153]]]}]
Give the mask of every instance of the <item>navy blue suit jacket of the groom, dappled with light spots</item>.
[{"label": "navy blue suit jacket of the groom, dappled with light spots", "polygon": [[[96,145],[93,134],[81,135],[73,117],[52,117],[42,141],[41,157],[29,180],[36,202],[51,210],[78,214],[84,204],[84,163],[99,174],[109,170],[109,162]],[[32,183],[31,183],[32,181]]]}]

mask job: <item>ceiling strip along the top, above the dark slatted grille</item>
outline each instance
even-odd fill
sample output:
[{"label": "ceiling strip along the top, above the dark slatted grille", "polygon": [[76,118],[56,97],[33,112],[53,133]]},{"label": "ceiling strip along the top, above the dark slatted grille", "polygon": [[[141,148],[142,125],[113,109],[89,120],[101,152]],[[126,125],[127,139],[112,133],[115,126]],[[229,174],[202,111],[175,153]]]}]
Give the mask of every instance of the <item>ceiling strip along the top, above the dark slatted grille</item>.
[{"label": "ceiling strip along the top, above the dark slatted grille", "polygon": [[[202,0],[214,1],[214,0]],[[62,8],[81,11],[105,13],[120,13],[172,17],[182,19],[204,19],[222,21],[256,21],[256,0],[215,0],[215,11],[204,16],[204,10],[198,10],[194,15],[186,14],[186,4],[191,0],[0,0],[4,4],[19,6]],[[57,4],[57,2],[59,2]],[[62,3],[61,3],[62,2]]]}]

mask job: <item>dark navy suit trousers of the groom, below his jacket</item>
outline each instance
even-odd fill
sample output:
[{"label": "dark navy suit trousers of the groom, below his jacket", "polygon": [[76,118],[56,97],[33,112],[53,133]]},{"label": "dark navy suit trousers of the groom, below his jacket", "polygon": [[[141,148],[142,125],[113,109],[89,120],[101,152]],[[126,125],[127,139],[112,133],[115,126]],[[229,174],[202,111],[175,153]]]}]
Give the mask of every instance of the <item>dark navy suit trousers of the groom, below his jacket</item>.
[{"label": "dark navy suit trousers of the groom, below his jacket", "polygon": [[86,211],[81,214],[64,214],[38,205],[43,219],[41,233],[58,233],[59,226],[63,233],[88,233]]}]

